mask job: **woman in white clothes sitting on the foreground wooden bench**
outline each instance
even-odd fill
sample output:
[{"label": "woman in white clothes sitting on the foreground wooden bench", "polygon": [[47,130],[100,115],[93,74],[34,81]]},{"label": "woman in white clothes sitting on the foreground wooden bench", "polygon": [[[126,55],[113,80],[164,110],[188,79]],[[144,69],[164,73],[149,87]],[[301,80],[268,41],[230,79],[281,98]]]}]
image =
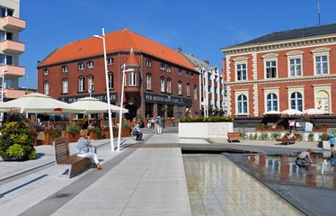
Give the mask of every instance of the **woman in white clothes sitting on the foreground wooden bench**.
[{"label": "woman in white clothes sitting on the foreground wooden bench", "polygon": [[99,160],[97,154],[90,152],[91,148],[91,140],[90,136],[87,136],[87,130],[79,131],[80,138],[77,143],[77,156],[78,157],[88,157],[93,162],[93,167],[97,167],[98,170],[102,169],[99,164]]}]

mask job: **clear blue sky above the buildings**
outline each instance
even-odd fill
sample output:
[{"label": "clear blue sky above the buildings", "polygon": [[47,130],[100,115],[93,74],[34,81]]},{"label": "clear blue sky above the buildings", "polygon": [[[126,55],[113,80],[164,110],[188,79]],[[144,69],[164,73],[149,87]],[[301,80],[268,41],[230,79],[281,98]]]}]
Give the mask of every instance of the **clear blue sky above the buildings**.
[{"label": "clear blue sky above the buildings", "polygon": [[[316,26],[318,0],[21,0],[26,50],[20,86],[37,88],[37,62],[75,40],[127,28],[222,69],[221,48],[273,31]],[[335,0],[320,0],[321,24],[336,23]]]}]

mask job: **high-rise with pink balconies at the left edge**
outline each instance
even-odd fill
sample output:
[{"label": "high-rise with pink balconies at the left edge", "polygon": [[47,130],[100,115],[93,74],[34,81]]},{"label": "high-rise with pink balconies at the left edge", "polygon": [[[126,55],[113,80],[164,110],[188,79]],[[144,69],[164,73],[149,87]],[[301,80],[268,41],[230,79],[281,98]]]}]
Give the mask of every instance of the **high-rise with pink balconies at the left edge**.
[{"label": "high-rise with pink balconies at the left edge", "polygon": [[25,25],[26,22],[20,18],[20,0],[0,2],[0,85],[4,101],[27,94],[25,89],[19,88],[19,78],[25,75],[25,67],[19,62],[25,44],[19,35]]}]

